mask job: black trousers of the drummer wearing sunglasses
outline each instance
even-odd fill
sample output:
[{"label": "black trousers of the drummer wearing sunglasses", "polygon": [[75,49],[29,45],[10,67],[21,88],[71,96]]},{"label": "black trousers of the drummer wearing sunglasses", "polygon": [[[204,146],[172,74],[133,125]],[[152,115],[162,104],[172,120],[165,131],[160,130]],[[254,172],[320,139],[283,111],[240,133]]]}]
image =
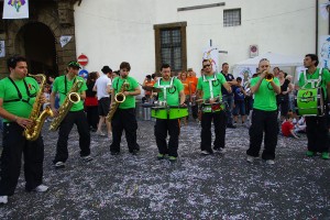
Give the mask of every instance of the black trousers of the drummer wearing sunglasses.
[{"label": "black trousers of the drummer wearing sunglasses", "polygon": [[211,122],[213,120],[216,139],[213,142],[213,148],[224,148],[226,138],[226,112],[219,111],[213,113],[204,112],[201,114],[201,143],[200,150],[212,153],[211,142]]}]

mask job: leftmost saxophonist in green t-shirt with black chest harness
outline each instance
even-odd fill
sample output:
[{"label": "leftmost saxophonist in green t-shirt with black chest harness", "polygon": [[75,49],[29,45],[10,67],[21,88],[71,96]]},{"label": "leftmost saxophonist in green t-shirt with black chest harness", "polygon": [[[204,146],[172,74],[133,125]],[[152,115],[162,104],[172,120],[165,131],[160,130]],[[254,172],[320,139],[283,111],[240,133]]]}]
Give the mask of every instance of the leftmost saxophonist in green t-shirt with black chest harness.
[{"label": "leftmost saxophonist in green t-shirt with black chest harness", "polygon": [[[44,142],[40,135],[28,141],[23,131],[33,124],[29,119],[35,97],[40,91],[36,80],[26,77],[26,59],[22,56],[10,57],[7,62],[9,77],[0,81],[0,117],[3,118],[1,154],[0,205],[8,202],[8,196],[14,194],[18,185],[22,154],[24,155],[25,189],[46,191],[43,185]],[[44,103],[42,95],[40,102]]]}]

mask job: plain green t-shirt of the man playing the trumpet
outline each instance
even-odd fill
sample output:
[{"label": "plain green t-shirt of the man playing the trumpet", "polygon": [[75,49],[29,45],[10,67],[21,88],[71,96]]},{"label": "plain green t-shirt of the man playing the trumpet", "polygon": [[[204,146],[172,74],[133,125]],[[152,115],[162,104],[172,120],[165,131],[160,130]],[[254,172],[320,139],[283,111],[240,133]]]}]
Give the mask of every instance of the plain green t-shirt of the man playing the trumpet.
[{"label": "plain green t-shirt of the man playing the trumpet", "polygon": [[[251,87],[255,86],[258,79],[260,76],[251,79]],[[277,86],[280,85],[278,78],[275,77],[273,80]],[[275,111],[277,109],[276,92],[266,79],[263,79],[258,90],[254,94],[253,108],[263,111]]]}]

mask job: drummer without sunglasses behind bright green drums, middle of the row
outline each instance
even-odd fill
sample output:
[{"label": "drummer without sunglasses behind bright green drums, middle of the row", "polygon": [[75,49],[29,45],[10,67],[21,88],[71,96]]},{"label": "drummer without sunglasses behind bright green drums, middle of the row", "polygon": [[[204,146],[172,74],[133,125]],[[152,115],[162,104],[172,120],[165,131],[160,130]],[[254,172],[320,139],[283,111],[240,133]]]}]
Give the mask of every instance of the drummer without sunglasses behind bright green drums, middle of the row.
[{"label": "drummer without sunglasses behind bright green drums, middle of the row", "polygon": [[[170,77],[170,67],[163,64],[161,67],[162,77],[154,85],[160,88],[158,101],[165,101],[167,106],[184,106],[185,92],[184,86],[179,79]],[[167,132],[169,141],[166,143]],[[180,132],[179,119],[156,119],[155,138],[158,147],[158,160],[168,156],[170,162],[177,160],[178,136]]]}]

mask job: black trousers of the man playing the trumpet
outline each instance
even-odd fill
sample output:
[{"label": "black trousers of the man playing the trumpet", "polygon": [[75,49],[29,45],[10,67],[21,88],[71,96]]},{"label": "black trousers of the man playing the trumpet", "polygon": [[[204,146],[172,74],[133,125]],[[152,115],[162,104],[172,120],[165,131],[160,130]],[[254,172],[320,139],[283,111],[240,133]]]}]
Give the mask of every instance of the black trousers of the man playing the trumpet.
[{"label": "black trousers of the man playing the trumpet", "polygon": [[263,142],[263,133],[265,132],[263,160],[274,160],[275,148],[277,145],[278,123],[277,110],[263,111],[253,109],[252,125],[250,128],[250,147],[246,154],[257,157]]}]

